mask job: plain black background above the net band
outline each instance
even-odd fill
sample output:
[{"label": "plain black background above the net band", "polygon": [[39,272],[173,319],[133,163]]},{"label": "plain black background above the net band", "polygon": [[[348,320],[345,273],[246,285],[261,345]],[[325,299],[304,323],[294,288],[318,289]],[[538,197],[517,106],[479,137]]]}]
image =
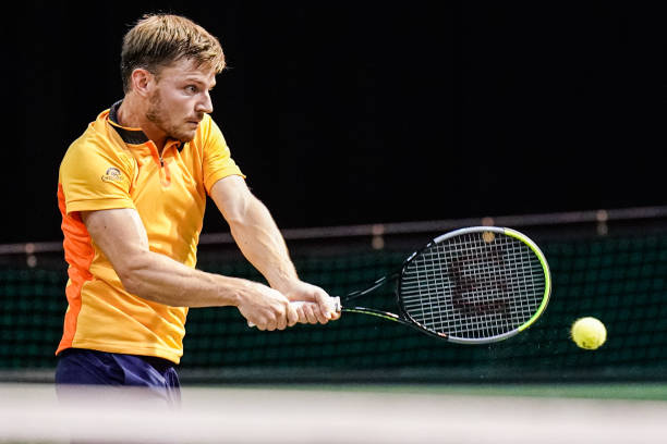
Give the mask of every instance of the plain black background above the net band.
[{"label": "plain black background above the net band", "polygon": [[61,238],[60,160],[157,11],[220,39],[213,116],[281,227],[664,205],[665,15],[635,3],[21,2],[0,242]]}]

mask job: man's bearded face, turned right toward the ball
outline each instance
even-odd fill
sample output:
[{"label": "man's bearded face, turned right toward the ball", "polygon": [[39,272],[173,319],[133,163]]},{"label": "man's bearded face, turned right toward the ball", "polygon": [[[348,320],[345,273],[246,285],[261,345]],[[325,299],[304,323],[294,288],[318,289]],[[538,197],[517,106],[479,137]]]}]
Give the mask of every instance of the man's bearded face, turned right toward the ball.
[{"label": "man's bearded face, turned right toward the ball", "polygon": [[216,72],[206,64],[196,66],[181,59],[162,67],[149,96],[146,119],[168,137],[181,141],[194,138],[204,114],[213,112],[209,91],[216,85]]}]

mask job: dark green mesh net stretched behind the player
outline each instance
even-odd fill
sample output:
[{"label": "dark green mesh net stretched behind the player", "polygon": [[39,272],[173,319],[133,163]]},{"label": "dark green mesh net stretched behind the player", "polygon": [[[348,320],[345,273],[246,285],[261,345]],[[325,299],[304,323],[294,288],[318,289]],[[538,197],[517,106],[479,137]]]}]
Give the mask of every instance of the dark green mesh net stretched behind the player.
[{"label": "dark green mesh net stretched behind the player", "polygon": [[[184,381],[664,381],[667,379],[667,208],[284,231],[303,280],[332,295],[367,287],[442,232],[495,224],[524,232],[553,275],[545,314],[509,341],[449,344],[400,324],[345,313],[327,325],[250,329],[234,308],[189,313]],[[263,281],[228,234],[204,235],[197,267]],[[0,246],[0,379],[52,378],[65,310],[60,244]],[[393,311],[387,286],[364,303]],[[601,319],[595,351],[569,338],[571,323]]]}]

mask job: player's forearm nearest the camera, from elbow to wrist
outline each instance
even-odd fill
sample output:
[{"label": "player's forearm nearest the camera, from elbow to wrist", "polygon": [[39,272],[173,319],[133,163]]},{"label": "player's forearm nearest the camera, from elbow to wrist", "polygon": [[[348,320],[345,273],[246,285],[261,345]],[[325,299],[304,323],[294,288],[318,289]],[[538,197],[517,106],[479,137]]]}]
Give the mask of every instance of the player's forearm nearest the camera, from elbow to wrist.
[{"label": "player's forearm nearest the camera, from elbow to wrist", "polygon": [[144,251],[123,269],[129,293],[173,307],[238,306],[250,281],[206,273],[153,251]]}]

